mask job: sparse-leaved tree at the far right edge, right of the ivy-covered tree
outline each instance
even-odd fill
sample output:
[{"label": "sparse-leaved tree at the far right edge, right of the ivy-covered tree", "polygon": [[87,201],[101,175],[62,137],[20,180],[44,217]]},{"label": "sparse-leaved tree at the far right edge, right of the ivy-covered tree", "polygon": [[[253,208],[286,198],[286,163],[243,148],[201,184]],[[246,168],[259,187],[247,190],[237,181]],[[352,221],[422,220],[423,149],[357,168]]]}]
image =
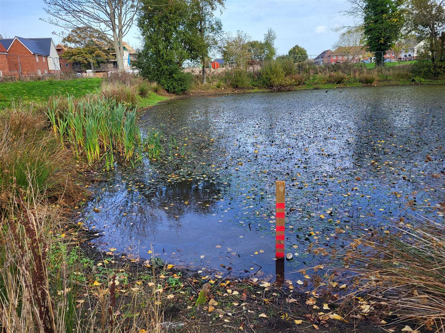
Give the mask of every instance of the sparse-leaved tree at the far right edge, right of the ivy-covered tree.
[{"label": "sparse-leaved tree at the far right edge, right of the ivy-covered tree", "polygon": [[434,74],[445,72],[445,0],[413,0],[409,4],[407,30],[423,40],[420,58],[431,62]]}]

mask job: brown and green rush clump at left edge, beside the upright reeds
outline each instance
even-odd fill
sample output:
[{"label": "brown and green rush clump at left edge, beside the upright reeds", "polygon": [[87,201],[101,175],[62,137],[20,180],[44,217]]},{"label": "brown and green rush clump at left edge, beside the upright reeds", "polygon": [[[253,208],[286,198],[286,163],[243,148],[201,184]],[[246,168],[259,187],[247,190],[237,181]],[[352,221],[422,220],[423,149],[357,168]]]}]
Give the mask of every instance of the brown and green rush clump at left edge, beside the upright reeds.
[{"label": "brown and green rush clump at left edge, beside the upright reeds", "polygon": [[31,108],[16,105],[0,117],[0,203],[8,207],[19,186],[52,202],[73,201],[81,190],[69,172],[71,155],[47,131],[47,120]]}]

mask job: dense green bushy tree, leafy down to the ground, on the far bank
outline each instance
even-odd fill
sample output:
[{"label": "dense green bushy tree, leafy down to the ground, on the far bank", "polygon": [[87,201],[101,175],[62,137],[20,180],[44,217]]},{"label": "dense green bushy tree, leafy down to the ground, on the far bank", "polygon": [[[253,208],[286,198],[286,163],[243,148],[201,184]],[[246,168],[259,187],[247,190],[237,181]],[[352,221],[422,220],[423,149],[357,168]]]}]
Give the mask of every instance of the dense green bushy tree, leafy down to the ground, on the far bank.
[{"label": "dense green bushy tree, leafy down to the ground, on the far bank", "polygon": [[[196,20],[186,2],[143,0],[138,15],[143,47],[134,66],[150,81],[167,91],[182,93],[190,84],[190,75],[182,71],[187,59],[197,59],[200,50]],[[197,45],[198,44],[198,45]]]}]

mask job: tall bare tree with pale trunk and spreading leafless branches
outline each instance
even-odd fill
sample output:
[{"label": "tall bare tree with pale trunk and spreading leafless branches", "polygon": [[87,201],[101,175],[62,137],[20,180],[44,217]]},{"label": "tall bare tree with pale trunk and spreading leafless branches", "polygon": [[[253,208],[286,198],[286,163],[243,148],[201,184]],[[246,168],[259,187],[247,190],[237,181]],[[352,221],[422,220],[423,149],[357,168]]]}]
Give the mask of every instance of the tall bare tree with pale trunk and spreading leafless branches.
[{"label": "tall bare tree with pale trunk and spreading leafless branches", "polygon": [[123,38],[129,32],[140,0],[44,0],[44,11],[52,16],[40,19],[65,29],[95,32],[116,52],[117,67],[124,69]]}]

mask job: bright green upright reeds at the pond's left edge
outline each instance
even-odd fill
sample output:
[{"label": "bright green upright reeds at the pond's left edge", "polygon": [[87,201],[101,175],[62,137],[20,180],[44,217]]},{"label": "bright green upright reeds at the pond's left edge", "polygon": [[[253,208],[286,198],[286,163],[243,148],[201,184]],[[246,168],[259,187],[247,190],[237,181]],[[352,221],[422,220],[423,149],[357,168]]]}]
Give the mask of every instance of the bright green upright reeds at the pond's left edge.
[{"label": "bright green upright reeds at the pond's left edge", "polygon": [[115,99],[90,96],[76,102],[73,96],[54,98],[46,115],[61,143],[69,144],[90,166],[103,160],[109,170],[115,155],[133,163],[163,153],[162,145],[150,141],[160,142],[159,133],[148,133],[142,139],[136,109]]}]

